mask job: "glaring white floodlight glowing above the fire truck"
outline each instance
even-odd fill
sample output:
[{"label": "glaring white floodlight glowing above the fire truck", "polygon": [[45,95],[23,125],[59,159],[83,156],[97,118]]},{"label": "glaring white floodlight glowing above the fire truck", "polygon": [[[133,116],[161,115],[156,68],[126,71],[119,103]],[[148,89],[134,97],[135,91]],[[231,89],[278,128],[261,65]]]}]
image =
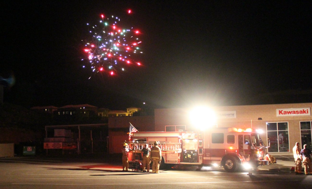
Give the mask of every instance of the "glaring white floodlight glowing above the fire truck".
[{"label": "glaring white floodlight glowing above the fire truck", "polygon": [[215,125],[216,119],[214,111],[207,107],[196,107],[190,112],[191,123],[200,130]]}]

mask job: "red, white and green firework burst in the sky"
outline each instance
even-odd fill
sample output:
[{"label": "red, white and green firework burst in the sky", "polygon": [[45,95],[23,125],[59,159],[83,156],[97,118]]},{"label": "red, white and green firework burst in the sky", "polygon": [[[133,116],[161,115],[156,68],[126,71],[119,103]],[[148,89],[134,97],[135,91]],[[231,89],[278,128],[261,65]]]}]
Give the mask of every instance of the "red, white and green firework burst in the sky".
[{"label": "red, white and green firework burst in the sky", "polygon": [[86,41],[83,49],[86,56],[82,61],[88,64],[83,67],[90,67],[94,73],[115,75],[119,71],[125,71],[129,65],[141,65],[135,60],[142,53],[139,30],[133,27],[123,28],[119,22],[120,19],[116,16],[105,18],[101,15],[98,24],[87,24],[91,39]]}]

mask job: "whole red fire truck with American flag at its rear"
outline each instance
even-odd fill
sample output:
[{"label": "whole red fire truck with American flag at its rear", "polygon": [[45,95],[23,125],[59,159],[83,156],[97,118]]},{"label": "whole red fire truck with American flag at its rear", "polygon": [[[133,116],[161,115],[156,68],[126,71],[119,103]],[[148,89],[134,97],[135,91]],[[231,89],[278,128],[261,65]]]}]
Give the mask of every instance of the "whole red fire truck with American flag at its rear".
[{"label": "whole red fire truck with American flag at its rear", "polygon": [[132,132],[129,144],[129,164],[140,163],[144,144],[151,148],[159,141],[162,150],[161,168],[172,164],[191,164],[202,166],[223,166],[227,172],[239,171],[248,164],[249,150],[257,154],[258,165],[270,164],[265,160],[265,144],[256,130],[237,128],[212,128],[200,132]]}]

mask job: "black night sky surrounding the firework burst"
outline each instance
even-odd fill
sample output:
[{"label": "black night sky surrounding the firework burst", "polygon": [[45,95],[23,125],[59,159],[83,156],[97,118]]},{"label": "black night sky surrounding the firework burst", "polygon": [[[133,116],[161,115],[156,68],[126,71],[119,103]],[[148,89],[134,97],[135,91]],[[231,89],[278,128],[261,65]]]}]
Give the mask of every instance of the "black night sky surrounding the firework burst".
[{"label": "black night sky surrounding the firework burst", "polygon": [[[311,1],[22,1],[2,10],[0,76],[15,76],[7,102],[110,109],[312,102]],[[88,79],[81,40],[101,13],[140,29],[143,66]]]}]

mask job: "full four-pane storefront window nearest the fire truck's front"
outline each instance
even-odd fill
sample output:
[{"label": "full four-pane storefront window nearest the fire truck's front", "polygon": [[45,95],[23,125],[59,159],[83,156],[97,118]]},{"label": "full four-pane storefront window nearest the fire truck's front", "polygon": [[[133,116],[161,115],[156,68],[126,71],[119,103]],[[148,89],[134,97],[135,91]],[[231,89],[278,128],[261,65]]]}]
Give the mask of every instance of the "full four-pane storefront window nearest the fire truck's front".
[{"label": "full four-pane storefront window nearest the fire truck's front", "polygon": [[289,152],[288,122],[266,123],[266,130],[271,142],[268,152]]}]

